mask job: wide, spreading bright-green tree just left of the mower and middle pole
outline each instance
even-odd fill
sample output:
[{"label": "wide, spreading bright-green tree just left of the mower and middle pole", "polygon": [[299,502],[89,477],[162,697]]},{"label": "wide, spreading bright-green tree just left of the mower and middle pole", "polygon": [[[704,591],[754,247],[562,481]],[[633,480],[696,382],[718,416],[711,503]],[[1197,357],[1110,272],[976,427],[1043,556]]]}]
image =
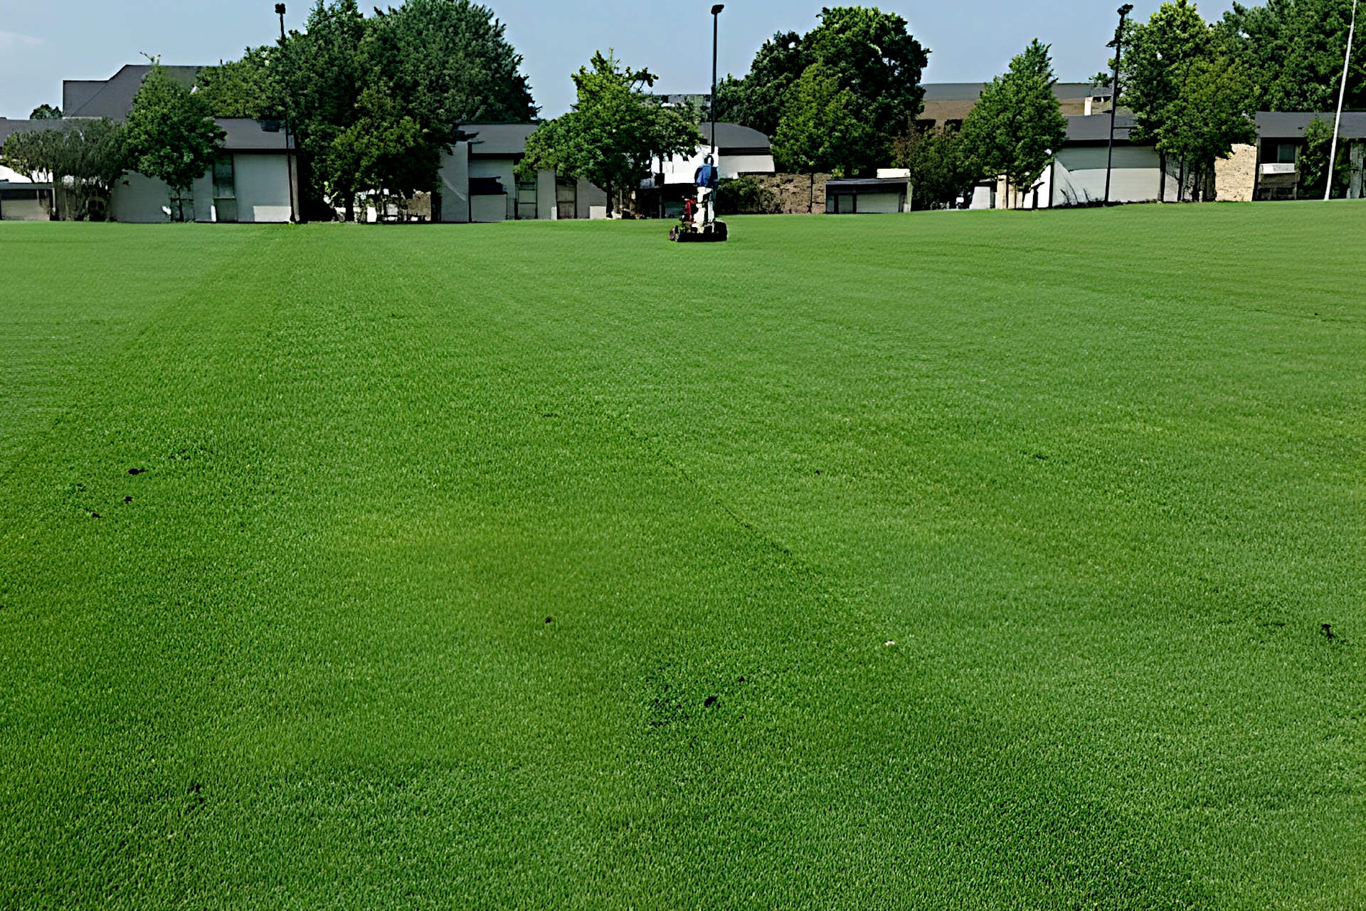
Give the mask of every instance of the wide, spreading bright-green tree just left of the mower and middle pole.
[{"label": "wide, spreading bright-green tree just left of the mower and middle pole", "polygon": [[653,156],[691,156],[701,145],[702,134],[687,109],[664,108],[646,94],[654,75],[623,67],[611,52],[594,52],[591,68],[579,67],[574,85],[574,108],[527,138],[520,178],[555,171],[589,180],[607,190],[611,214],[613,191],[634,187],[649,172]]}]

